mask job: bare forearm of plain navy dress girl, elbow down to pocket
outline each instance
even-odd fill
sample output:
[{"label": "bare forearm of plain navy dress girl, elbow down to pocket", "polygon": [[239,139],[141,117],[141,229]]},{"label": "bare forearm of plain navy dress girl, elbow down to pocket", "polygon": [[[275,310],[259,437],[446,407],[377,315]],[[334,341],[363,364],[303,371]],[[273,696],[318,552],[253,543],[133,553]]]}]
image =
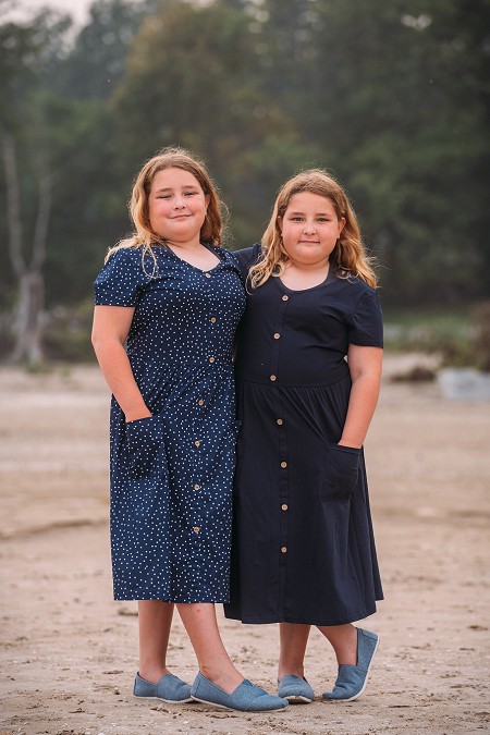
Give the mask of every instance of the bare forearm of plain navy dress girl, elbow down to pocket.
[{"label": "bare forearm of plain navy dress girl, elbow down to pocket", "polygon": [[362,446],[378,403],[380,380],[364,375],[353,381],[344,429],[339,444]]}]

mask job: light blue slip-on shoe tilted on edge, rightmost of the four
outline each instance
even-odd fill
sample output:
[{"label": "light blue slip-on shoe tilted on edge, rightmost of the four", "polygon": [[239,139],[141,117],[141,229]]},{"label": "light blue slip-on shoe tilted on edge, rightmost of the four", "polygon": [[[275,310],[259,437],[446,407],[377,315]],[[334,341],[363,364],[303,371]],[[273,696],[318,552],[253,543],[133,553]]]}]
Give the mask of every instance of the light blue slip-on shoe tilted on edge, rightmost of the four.
[{"label": "light blue slip-on shoe tilted on edge, rightmost of the four", "polygon": [[324,691],[324,699],[351,702],[360,697],[366,688],[372,659],[378,649],[379,636],[357,628],[357,665],[341,663],[333,691]]}]

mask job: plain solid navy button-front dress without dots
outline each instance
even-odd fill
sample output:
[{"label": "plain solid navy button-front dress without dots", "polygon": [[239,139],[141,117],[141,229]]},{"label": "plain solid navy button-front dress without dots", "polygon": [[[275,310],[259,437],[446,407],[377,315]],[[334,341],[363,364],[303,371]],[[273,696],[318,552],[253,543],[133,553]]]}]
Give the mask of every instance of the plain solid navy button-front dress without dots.
[{"label": "plain solid navy button-front dress without dots", "polygon": [[[260,246],[235,253],[246,278]],[[363,450],[339,446],[348,345],[382,346],[376,291],[357,279],[253,290],[237,333],[242,421],[231,602],[244,623],[340,625],[382,598]]]}]

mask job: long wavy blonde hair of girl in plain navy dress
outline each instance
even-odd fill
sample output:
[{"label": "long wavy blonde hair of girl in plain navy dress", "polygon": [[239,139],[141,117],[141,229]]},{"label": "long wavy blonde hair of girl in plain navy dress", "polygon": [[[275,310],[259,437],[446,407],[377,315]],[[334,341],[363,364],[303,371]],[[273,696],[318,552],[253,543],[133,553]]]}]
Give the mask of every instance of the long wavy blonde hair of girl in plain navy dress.
[{"label": "long wavy blonde hair of girl in plain navy dress", "polygon": [[281,275],[290,264],[282,243],[280,221],[293,196],[303,192],[330,199],[339,220],[345,219],[345,225],[329,258],[336,275],[345,279],[359,278],[376,287],[378,279],[371,267],[372,258],[366,254],[354,209],[342,186],[323,169],[302,171],[280,188],[270,222],[261,238],[261,258],[250,268],[248,274],[250,286],[257,289],[271,275]]}]

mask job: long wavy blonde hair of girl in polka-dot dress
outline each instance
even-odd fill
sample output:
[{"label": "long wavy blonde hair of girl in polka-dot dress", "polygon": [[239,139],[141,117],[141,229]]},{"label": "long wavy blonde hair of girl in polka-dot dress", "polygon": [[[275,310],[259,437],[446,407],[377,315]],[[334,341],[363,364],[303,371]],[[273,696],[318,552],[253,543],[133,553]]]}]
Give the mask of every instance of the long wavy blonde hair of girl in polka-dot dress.
[{"label": "long wavy blonde hair of girl in polka-dot dress", "polygon": [[152,245],[164,245],[164,241],[162,241],[159,234],[151,230],[148,199],[154,179],[156,174],[163,169],[182,169],[183,171],[188,171],[197,179],[203,192],[209,197],[206,218],[200,229],[200,240],[218,247],[221,246],[223,229],[221,216],[222,204],[216,184],[208,174],[204,162],[197,156],[191,154],[185,148],[169,146],[150,158],[136,175],[128,201],[130,217],[135,226],[135,231],[130,237],[121,240],[114,247],[109,249],[106,256],[106,262],[115,250],[120,250],[124,247],[140,247],[143,250],[142,259],[144,267],[146,256],[151,256],[155,273],[157,260],[152,250]]}]

